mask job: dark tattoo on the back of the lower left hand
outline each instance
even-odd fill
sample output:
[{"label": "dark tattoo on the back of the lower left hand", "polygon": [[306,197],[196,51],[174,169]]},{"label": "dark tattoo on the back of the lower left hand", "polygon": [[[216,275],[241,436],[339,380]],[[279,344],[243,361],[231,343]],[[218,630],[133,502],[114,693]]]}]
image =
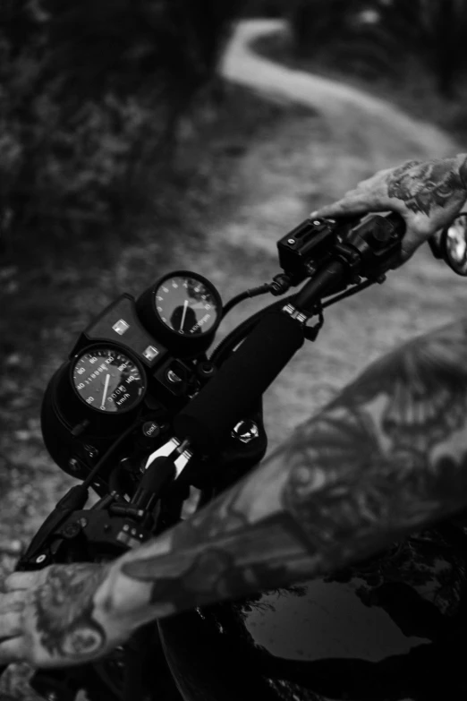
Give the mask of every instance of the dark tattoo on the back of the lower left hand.
[{"label": "dark tattoo on the back of the lower left hand", "polygon": [[73,661],[94,656],[104,647],[106,633],[93,612],[94,595],[106,576],[102,565],[49,568],[33,603],[40,644],[52,657]]}]

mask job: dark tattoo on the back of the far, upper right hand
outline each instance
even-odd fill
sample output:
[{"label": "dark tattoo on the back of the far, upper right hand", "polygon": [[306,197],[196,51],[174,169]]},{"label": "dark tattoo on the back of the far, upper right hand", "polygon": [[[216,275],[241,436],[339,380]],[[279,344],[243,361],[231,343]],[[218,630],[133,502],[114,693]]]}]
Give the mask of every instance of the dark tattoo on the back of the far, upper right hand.
[{"label": "dark tattoo on the back of the far, upper right hand", "polygon": [[408,161],[387,178],[389,197],[402,200],[414,213],[429,216],[467,197],[467,158],[443,158],[424,163]]}]

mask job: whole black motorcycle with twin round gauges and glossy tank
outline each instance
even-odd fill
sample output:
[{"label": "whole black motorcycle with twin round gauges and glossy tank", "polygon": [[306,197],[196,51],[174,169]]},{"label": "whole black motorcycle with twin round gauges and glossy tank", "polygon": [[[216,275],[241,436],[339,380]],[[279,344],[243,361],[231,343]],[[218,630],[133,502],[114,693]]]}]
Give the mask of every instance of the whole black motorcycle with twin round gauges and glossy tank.
[{"label": "whole black motorcycle with twin round gauges and glossy tank", "polygon": [[[463,276],[466,231],[463,214],[429,241]],[[384,283],[403,233],[395,214],[306,219],[277,243],[282,271],[225,306],[190,270],[109,304],[48,383],[41,412],[48,452],[81,484],[16,569],[113,560],[258,466],[264,392],[317,340],[327,307]],[[215,346],[225,315],[265,294],[280,299]],[[462,520],[439,523],[327,577],[159,620],[98,662],[36,671],[30,686],[48,701],[461,697],[466,536]]]}]

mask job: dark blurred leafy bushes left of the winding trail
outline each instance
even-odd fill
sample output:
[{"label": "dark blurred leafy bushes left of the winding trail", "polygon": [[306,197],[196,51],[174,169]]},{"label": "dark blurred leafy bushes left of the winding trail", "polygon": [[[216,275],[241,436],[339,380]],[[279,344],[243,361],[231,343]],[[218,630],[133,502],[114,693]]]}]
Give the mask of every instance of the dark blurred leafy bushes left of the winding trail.
[{"label": "dark blurred leafy bushes left of the winding trail", "polygon": [[4,250],[94,234],[164,203],[180,124],[207,99],[238,5],[4,0]]}]

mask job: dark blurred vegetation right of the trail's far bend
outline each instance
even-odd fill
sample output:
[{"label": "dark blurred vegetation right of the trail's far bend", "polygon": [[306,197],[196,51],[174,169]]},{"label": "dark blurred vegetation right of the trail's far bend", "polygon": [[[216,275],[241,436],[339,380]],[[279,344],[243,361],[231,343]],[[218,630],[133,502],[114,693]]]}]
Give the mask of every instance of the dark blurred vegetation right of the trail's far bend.
[{"label": "dark blurred vegetation right of the trail's far bend", "polygon": [[262,39],[259,52],[386,98],[467,140],[463,0],[293,0],[269,4],[268,13],[288,19],[291,30]]}]

